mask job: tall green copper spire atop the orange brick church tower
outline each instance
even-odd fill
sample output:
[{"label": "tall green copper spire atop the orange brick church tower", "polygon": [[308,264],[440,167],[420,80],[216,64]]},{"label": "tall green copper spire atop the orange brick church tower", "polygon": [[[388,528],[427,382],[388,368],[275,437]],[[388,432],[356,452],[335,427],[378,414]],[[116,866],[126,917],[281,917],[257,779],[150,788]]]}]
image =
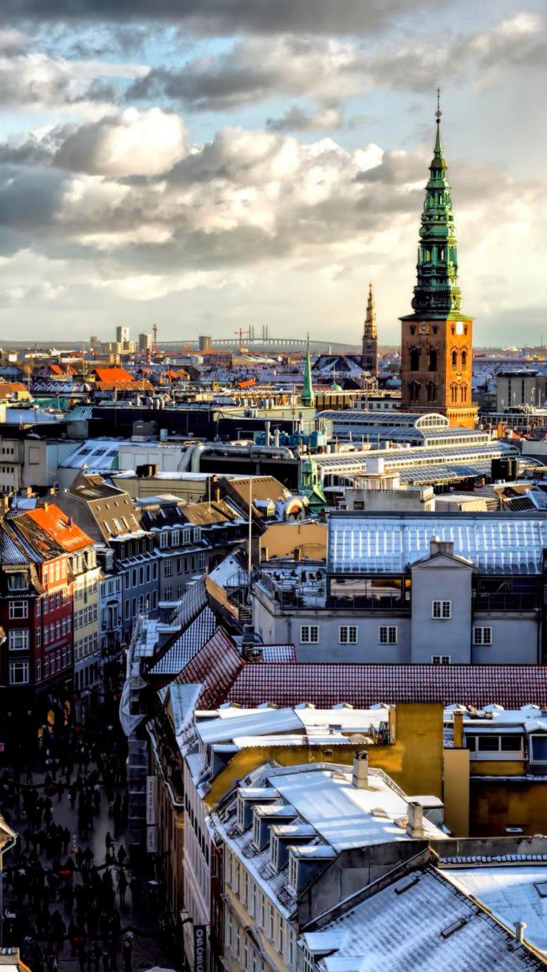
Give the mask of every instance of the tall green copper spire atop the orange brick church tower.
[{"label": "tall green copper spire atop the orange brick church tower", "polygon": [[456,226],[441,142],[439,95],[437,89],[437,133],[419,227],[418,281],[412,301],[416,315],[429,319],[446,318],[461,310]]}]

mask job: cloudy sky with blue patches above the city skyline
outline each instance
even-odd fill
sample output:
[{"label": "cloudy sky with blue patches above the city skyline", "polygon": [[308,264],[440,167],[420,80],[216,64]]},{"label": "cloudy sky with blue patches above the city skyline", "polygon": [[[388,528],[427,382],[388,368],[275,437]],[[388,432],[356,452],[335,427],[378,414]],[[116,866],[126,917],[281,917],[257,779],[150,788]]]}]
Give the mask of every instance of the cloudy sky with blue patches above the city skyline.
[{"label": "cloudy sky with blue patches above the city skyline", "polygon": [[547,5],[2,0],[0,344],[381,343],[442,89],[475,345],[547,339]]}]

